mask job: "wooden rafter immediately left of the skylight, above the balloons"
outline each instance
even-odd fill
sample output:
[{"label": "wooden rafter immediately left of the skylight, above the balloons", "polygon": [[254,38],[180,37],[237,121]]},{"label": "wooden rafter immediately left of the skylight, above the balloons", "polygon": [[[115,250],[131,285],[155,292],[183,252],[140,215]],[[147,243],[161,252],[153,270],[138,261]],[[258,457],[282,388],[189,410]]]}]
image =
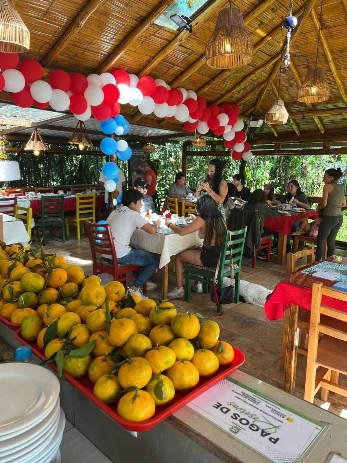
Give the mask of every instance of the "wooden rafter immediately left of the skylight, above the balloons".
[{"label": "wooden rafter immediately left of the skylight, above the balloons", "polygon": [[153,24],[159,16],[161,16],[164,11],[174,2],[174,0],[161,0],[159,5],[146,16],[141,23],[139,23],[130,34],[125,37],[122,42],[112,51],[111,55],[108,56],[105,61],[100,64],[97,69],[98,74],[110,69],[114,63],[123,55],[123,53],[130,48],[130,46],[135,42],[135,40],[151,25]]}]

